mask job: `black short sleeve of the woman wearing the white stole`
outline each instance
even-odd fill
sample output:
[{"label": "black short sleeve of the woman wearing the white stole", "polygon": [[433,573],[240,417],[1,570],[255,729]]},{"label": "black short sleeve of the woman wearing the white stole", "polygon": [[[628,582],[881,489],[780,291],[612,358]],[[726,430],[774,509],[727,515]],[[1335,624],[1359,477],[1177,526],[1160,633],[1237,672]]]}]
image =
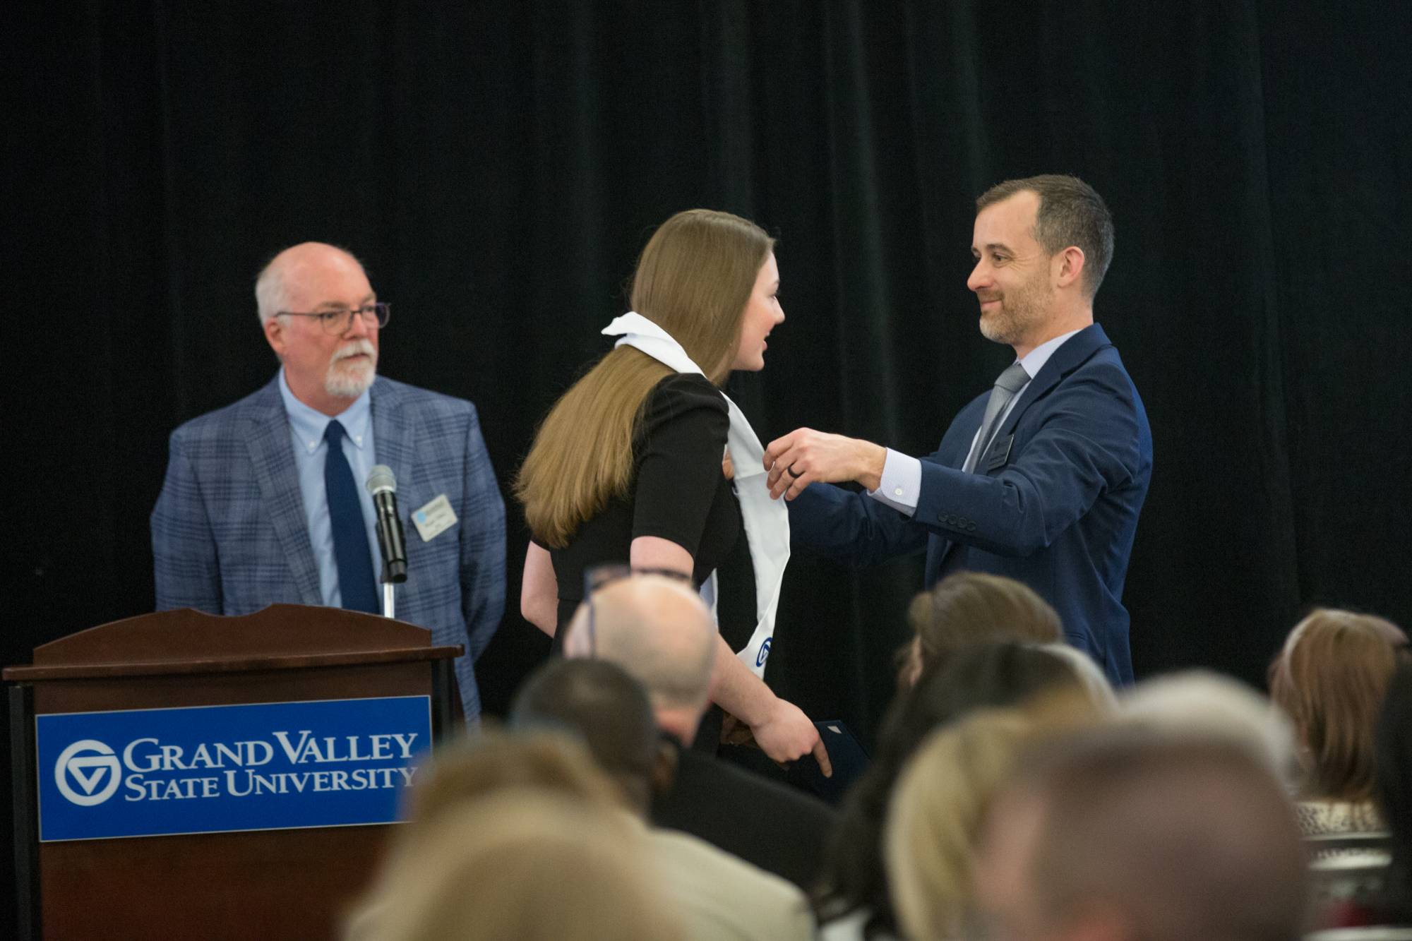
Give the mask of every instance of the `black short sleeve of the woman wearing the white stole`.
[{"label": "black short sleeve of the woman wearing the white stole", "polygon": [[726,400],[705,376],[658,383],[637,437],[633,538],[657,535],[696,557],[722,485],[729,428]]}]

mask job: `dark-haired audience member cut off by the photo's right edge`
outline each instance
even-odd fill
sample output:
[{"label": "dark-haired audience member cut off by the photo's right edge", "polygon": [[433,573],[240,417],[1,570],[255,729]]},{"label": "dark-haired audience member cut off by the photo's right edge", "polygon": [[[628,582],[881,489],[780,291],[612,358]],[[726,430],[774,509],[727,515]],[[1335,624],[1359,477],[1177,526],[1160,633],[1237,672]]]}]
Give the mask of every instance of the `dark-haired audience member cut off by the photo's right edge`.
[{"label": "dark-haired audience member cut off by the photo's right edge", "polygon": [[1412,663],[1388,682],[1375,742],[1377,795],[1392,838],[1388,914],[1412,924]]}]

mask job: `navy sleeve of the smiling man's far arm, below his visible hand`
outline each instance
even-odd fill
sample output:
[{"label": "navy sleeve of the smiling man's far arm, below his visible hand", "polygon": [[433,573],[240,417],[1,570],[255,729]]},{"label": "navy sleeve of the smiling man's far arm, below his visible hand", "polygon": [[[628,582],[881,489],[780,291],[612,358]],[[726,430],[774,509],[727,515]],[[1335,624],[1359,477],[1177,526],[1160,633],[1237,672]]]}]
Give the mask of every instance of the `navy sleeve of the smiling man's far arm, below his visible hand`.
[{"label": "navy sleeve of the smiling man's far arm, below his visible hand", "polygon": [[789,541],[840,562],[873,565],[925,550],[926,528],[866,493],[810,483],[789,502]]}]

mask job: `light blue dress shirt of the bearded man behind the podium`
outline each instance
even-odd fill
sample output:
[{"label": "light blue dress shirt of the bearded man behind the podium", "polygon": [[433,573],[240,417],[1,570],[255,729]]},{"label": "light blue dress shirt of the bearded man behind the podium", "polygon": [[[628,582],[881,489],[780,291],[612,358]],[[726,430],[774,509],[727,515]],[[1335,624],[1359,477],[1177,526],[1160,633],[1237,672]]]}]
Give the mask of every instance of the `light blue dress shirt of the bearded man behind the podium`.
[{"label": "light blue dress shirt of the bearded man behind the podium", "polygon": [[[284,414],[289,417],[289,434],[294,438],[294,466],[299,475],[299,496],[304,499],[304,519],[309,524],[309,544],[313,547],[313,562],[319,567],[319,593],[329,608],[342,608],[339,592],[339,564],[333,557],[333,524],[329,521],[329,497],[323,492],[323,465],[329,455],[323,430],[333,418],[343,425],[343,456],[353,470],[357,485],[359,504],[363,507],[363,524],[367,527],[367,548],[373,557],[373,578],[381,585],[383,555],[377,548],[377,513],[373,509],[373,495],[363,483],[367,472],[377,463],[373,452],[373,404],[364,391],[353,404],[330,418],[322,411],[309,408],[294,397],[289,383],[280,369],[280,397],[284,398]],[[381,598],[381,591],[378,591]]]}]

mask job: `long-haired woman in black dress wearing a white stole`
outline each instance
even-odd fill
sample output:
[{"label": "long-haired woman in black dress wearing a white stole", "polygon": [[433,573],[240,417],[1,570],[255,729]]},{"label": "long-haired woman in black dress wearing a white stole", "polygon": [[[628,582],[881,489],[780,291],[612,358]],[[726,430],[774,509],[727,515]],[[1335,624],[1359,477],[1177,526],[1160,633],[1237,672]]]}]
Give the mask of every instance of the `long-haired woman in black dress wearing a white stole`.
[{"label": "long-haired woman in black dress wearing a white stole", "polygon": [[[813,752],[827,769],[813,723],[762,680],[789,519],[770,500],[760,439],[720,391],[731,370],[764,369],[778,292],[774,240],[753,222],[692,209],[652,235],[633,311],[603,331],[614,349],[555,403],[515,480],[534,535],[520,605],[559,650],[590,568],[690,576],[720,625],[716,705],[777,762]],[[722,722],[713,711],[700,739],[713,745]]]}]

